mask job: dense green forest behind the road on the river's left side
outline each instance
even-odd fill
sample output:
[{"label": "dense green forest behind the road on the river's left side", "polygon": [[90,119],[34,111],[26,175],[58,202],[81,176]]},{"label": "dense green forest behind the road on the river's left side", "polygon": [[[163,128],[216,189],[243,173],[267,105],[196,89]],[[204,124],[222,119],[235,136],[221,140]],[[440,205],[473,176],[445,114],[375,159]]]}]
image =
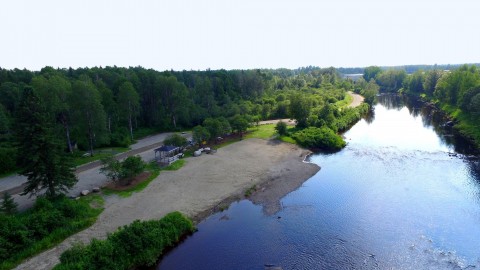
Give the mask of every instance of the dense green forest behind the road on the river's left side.
[{"label": "dense green forest behind the road on the river's left side", "polygon": [[[141,135],[191,129],[212,119],[228,119],[232,131],[238,123],[273,118],[294,118],[300,128],[341,131],[359,118],[356,111],[337,106],[352,89],[353,82],[341,79],[336,69],[318,67],[0,69],[0,173],[15,168],[15,134],[25,133],[35,113],[43,115],[45,134],[66,152],[93,155],[98,147],[126,147]],[[32,107],[22,101],[27,92],[32,96],[29,102],[38,99],[38,110],[22,118],[28,111],[22,106]]]}]

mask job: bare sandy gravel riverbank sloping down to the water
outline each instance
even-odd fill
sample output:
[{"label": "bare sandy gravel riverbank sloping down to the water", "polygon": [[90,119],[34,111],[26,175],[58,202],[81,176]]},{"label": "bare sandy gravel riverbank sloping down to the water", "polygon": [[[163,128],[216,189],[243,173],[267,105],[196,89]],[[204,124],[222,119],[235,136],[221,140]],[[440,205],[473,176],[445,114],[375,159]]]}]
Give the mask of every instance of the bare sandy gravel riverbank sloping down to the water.
[{"label": "bare sandy gravel riverbank sloping down to the water", "polygon": [[[280,188],[292,180],[303,183],[319,170],[317,165],[303,162],[309,153],[288,143],[248,139],[225,146],[213,155],[188,158],[182,169],[162,172],[145,190],[129,198],[107,196],[105,210],[93,226],[16,269],[51,269],[74,243],[103,239],[137,219],[159,219],[180,211],[198,222],[243,198],[254,185],[275,183]],[[263,190],[267,191],[276,193],[273,187]]]}]

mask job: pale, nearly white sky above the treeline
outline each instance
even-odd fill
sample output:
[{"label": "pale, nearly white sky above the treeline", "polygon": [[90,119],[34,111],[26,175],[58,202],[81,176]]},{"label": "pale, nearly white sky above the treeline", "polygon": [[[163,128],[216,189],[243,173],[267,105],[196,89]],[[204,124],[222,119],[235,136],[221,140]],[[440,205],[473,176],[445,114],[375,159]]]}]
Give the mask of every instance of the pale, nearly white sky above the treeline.
[{"label": "pale, nearly white sky above the treeline", "polygon": [[480,63],[478,0],[2,0],[0,67]]}]

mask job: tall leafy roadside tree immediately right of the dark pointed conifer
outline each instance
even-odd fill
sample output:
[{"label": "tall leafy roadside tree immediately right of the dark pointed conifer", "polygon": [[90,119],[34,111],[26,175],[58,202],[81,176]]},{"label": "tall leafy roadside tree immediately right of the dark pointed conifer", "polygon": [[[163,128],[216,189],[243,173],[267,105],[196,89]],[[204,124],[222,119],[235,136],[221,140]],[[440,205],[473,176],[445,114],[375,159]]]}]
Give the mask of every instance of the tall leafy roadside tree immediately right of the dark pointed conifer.
[{"label": "tall leafy roadside tree immediately right of the dark pointed conifer", "polygon": [[108,137],[100,93],[88,77],[73,83],[70,103],[77,133],[80,138],[87,136],[90,155],[93,156],[94,145],[108,142]]}]

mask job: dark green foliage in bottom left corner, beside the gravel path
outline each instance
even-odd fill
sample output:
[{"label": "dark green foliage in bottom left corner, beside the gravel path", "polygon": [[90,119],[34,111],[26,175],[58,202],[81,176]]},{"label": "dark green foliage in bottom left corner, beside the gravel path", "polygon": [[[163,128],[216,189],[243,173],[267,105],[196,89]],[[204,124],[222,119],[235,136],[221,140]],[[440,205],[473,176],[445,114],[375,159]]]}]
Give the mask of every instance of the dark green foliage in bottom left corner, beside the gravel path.
[{"label": "dark green foliage in bottom left corner, beside the gravel path", "polygon": [[0,214],[0,269],[13,268],[92,225],[102,209],[90,207],[90,202],[100,200],[101,205],[102,201],[100,197],[87,197],[78,201],[64,196],[39,197],[24,213]]}]

